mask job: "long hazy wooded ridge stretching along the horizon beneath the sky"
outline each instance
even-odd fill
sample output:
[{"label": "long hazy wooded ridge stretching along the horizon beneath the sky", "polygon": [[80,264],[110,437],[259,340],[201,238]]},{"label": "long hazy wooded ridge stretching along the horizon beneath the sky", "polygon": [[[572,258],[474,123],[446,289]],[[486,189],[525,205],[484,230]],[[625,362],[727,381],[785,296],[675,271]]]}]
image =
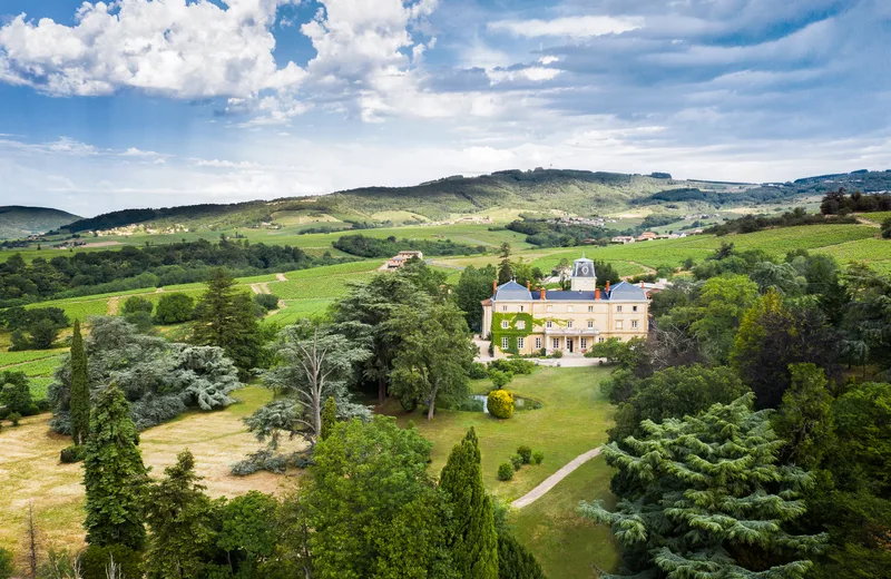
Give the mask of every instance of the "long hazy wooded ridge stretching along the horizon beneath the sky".
[{"label": "long hazy wooded ridge stretching along the horizon beneath the sky", "polygon": [[[489,175],[452,175],[405,187],[362,187],[329,195],[255,200],[232,205],[124,209],[57,227],[70,233],[110,229],[135,224],[157,226],[189,224],[215,227],[248,227],[270,223],[283,212],[325,214],[347,223],[380,223],[409,214],[444,220],[454,214],[479,214],[496,209],[528,212],[564,210],[580,215],[609,213],[642,205],[678,208],[741,206],[783,203],[806,195],[822,195],[844,187],[864,193],[891,190],[891,171],[865,171],[805,177],[794,183],[748,184],[707,179],[674,179],[668,173],[650,175],[571,169],[506,169]],[[681,207],[683,208],[683,207]]]}]

